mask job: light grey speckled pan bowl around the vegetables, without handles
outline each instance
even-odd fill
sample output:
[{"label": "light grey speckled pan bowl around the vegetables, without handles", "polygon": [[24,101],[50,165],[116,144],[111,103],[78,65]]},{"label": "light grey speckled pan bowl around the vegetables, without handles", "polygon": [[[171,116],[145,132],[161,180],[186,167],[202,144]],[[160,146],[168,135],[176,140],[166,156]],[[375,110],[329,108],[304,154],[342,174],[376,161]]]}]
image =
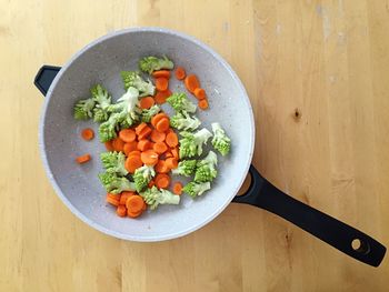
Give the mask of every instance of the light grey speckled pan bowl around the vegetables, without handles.
[{"label": "light grey speckled pan bowl around the vegetables, without handles", "polygon": [[[114,99],[123,93],[121,70],[136,70],[141,57],[166,54],[196,73],[209,95],[210,110],[198,112],[202,125],[218,121],[232,140],[232,152],[220,158],[219,177],[211,191],[192,200],[182,195],[179,207],[162,205],[136,220],[117,217],[104,202],[106,192],[97,174],[102,171],[99,153],[104,145],[80,139],[80,130],[98,125],[72,118],[72,107],[89,88],[101,82]],[[184,91],[171,79],[172,91]],[[191,97],[194,101],[194,99]],[[168,107],[164,105],[167,110]],[[64,204],[89,225],[117,238],[161,241],[188,234],[216,218],[232,200],[248,172],[255,144],[252,110],[246,90],[228,63],[200,41],[159,28],[128,29],[104,36],[80,50],[52,82],[46,97],[40,147],[48,177]],[[74,158],[91,153],[90,163]]]}]

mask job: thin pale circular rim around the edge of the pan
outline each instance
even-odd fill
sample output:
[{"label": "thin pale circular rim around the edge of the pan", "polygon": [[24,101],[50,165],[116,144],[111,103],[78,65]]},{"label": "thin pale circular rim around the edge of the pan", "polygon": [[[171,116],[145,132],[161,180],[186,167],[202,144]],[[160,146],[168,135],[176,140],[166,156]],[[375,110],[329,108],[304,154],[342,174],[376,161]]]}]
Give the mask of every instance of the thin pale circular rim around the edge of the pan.
[{"label": "thin pale circular rim around the edge of the pan", "polygon": [[206,50],[208,53],[210,53],[216,60],[218,60],[218,62],[220,62],[225,69],[229,72],[229,74],[232,77],[232,79],[235,80],[235,82],[237,83],[239,90],[242,92],[242,100],[246,103],[246,105],[248,107],[249,110],[249,119],[250,119],[250,137],[249,139],[249,144],[250,144],[250,150],[248,153],[248,159],[246,161],[246,165],[243,168],[243,173],[248,173],[250,164],[251,164],[251,160],[252,160],[252,155],[253,155],[253,149],[255,149],[255,135],[256,135],[256,128],[255,128],[255,119],[253,119],[253,112],[252,112],[252,107],[250,103],[250,99],[247,94],[246,88],[243,87],[241,80],[239,79],[238,74],[233,71],[233,69],[231,68],[231,66],[219,54],[217,53],[213,49],[211,49],[209,46],[205,44],[203,42],[201,42],[200,40],[196,39],[194,37],[188,36],[186,33],[176,31],[176,30],[171,30],[171,29],[164,29],[164,28],[158,28],[158,27],[134,27],[134,28],[128,28],[128,29],[122,29],[122,30],[117,30],[110,33],[107,33],[93,41],[91,41],[90,43],[88,43],[87,46],[84,46],[83,48],[81,48],[79,51],[77,51],[61,68],[61,70],[58,72],[58,74],[56,75],[54,80],[52,81],[50,89],[48,90],[46,98],[44,98],[44,102],[43,102],[43,107],[42,107],[42,113],[41,113],[41,118],[40,118],[40,123],[39,123],[39,149],[40,149],[40,154],[41,154],[41,159],[43,162],[43,168],[44,171],[47,173],[47,177],[51,183],[51,185],[53,187],[56,194],[60,198],[60,200],[69,208],[69,210],[77,217],[79,218],[82,222],[87,223],[88,225],[92,226],[96,230],[99,230],[100,232],[107,234],[107,235],[111,235],[118,239],[122,239],[122,240],[130,240],[130,241],[137,241],[137,242],[159,242],[159,241],[166,241],[166,240],[171,240],[171,239],[176,239],[176,238],[181,238],[183,235],[187,235],[189,233],[192,233],[197,230],[199,230],[200,228],[205,226],[206,224],[208,224],[209,222],[211,222],[215,218],[217,218],[232,201],[233,197],[238,193],[239,189],[241,188],[241,185],[243,184],[243,181],[246,179],[246,175],[242,175],[241,178],[239,178],[239,182],[237,184],[237,189],[231,191],[229,197],[226,197],[225,202],[219,205],[210,215],[208,215],[203,221],[201,221],[200,223],[197,223],[190,228],[187,228],[184,230],[180,230],[178,232],[171,232],[171,233],[167,233],[167,234],[161,234],[161,235],[131,235],[131,234],[124,234],[124,233],[120,233],[117,232],[114,230],[110,230],[108,228],[104,228],[103,225],[101,225],[100,223],[89,219],[87,215],[84,215],[82,212],[80,212],[69,200],[68,198],[64,195],[64,193],[62,192],[61,188],[59,187],[59,184],[57,183],[56,179],[53,178],[53,173],[50,169],[49,165],[49,161],[48,161],[48,157],[46,153],[46,148],[44,148],[44,120],[46,120],[46,115],[47,115],[47,109],[51,99],[51,94],[53,89],[57,87],[57,83],[59,82],[59,80],[61,79],[63,72],[67,70],[67,68],[69,68],[81,54],[83,54],[86,51],[88,51],[90,48],[94,47],[96,44],[109,40],[111,38],[121,36],[121,34],[127,34],[127,33],[136,33],[136,32],[159,32],[159,33],[167,33],[167,34],[171,34],[173,37],[178,37],[181,39],[186,39],[188,41],[193,42],[194,44],[199,46],[200,48],[202,48],[203,50]]}]

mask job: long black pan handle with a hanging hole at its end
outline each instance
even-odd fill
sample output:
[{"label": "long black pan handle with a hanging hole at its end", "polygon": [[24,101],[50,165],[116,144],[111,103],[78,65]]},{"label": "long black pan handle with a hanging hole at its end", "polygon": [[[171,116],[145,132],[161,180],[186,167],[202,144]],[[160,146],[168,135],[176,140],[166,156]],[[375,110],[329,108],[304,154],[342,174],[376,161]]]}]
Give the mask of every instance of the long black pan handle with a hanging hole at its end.
[{"label": "long black pan handle with a hanging hole at its end", "polygon": [[[253,165],[250,167],[249,172],[251,184],[248,191],[235,197],[232,202],[251,204],[270,211],[363,263],[373,266],[381,263],[387,250],[381,243],[281,192],[263,179]],[[359,248],[352,248],[351,242],[355,240],[360,243]]]}]

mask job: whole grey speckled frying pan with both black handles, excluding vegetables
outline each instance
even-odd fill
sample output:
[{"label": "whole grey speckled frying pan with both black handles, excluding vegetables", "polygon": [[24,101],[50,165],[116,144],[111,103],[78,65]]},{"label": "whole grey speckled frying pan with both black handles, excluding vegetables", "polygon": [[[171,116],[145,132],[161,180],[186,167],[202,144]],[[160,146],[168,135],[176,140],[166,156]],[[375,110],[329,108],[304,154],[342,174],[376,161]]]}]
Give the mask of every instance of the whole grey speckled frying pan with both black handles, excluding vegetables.
[{"label": "whole grey speckled frying pan with both black handles, excluding vegetables", "polygon": [[[118,218],[104,203],[98,181],[99,159],[77,165],[74,157],[86,152],[98,158],[99,142],[84,142],[80,130],[92,122],[74,121],[72,107],[89,88],[102,83],[118,98],[123,93],[119,77],[134,70],[149,54],[166,54],[177,64],[201,77],[210,110],[198,113],[202,127],[219,121],[232,140],[232,151],[219,162],[219,177],[211,191],[191,200],[182,195],[179,207],[163,205],[138,220]],[[184,90],[171,81],[174,90]],[[46,172],[62,202],[83,222],[109,235],[132,241],[162,241],[182,236],[209,223],[232,201],[268,210],[292,222],[339,251],[378,266],[386,248],[375,239],[278,190],[250,165],[255,145],[255,120],[246,90],[230,66],[212,49],[192,37],[160,28],[137,28],[104,36],[76,53],[62,68],[43,66],[34,84],[46,95],[39,143]],[[247,173],[248,191],[236,197]],[[359,246],[352,246],[352,241]]]}]

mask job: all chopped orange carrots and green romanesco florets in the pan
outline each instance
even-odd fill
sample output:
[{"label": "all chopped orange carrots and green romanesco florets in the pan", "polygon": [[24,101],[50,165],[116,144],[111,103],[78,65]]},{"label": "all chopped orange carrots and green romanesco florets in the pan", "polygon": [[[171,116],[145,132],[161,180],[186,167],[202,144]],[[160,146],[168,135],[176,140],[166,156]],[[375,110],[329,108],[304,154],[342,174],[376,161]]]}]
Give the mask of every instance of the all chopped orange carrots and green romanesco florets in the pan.
[{"label": "all chopped orange carrots and green romanesco florets in the pan", "polygon": [[[100,123],[99,138],[108,151],[100,154],[104,172],[99,179],[107,191],[107,202],[117,208],[119,217],[137,218],[148,208],[179,204],[182,192],[191,198],[203,194],[218,175],[216,152],[230,152],[231,141],[222,127],[215,122],[211,131],[201,129],[201,121],[194,115],[197,108],[209,107],[197,75],[187,75],[181,67],[172,71],[173,67],[166,57],[146,57],[139,61],[142,73],[121,72],[126,93],[117,102],[97,84],[91,88],[90,98],[74,104],[74,119]],[[172,73],[196,97],[197,105],[184,92],[169,90]],[[174,110],[172,117],[161,109],[166,102]],[[94,132],[88,128],[81,135],[90,141]],[[209,140],[216,152],[205,153],[203,145]],[[84,154],[77,162],[82,164],[90,159],[90,154]],[[192,181],[183,187],[180,175]]]}]

